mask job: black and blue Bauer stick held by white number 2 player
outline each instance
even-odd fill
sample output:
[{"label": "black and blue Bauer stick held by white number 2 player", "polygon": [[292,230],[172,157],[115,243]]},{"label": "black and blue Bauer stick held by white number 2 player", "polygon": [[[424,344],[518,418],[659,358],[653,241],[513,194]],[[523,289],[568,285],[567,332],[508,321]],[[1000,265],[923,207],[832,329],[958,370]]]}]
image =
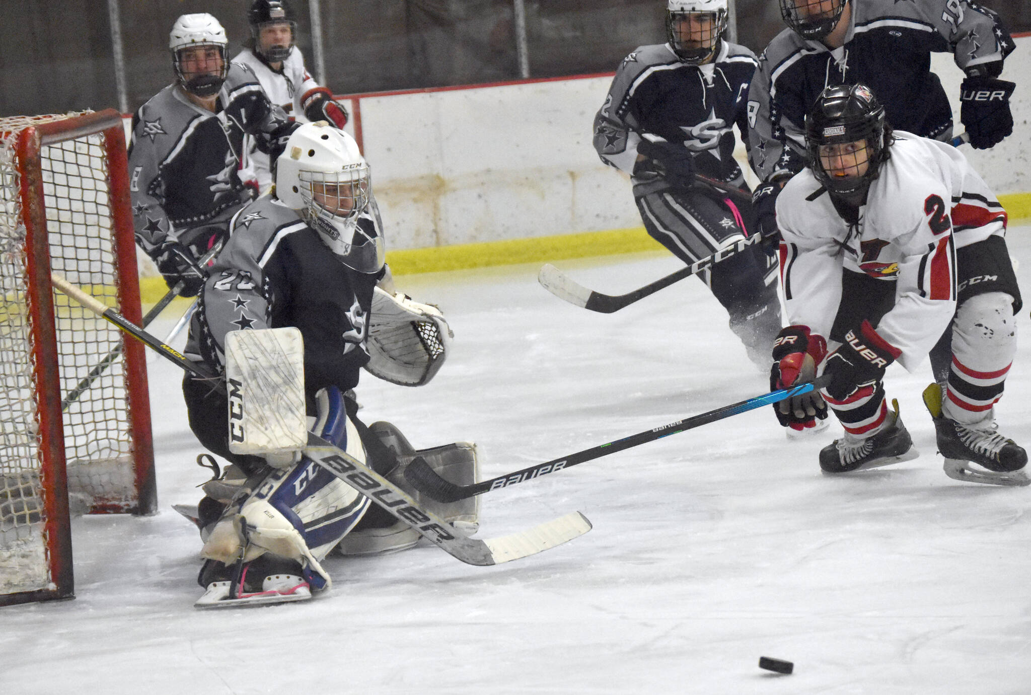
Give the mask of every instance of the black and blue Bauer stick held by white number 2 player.
[{"label": "black and blue Bauer stick held by white number 2 player", "polygon": [[830,384],[830,375],[824,375],[808,384],[802,384],[791,389],[772,391],[770,393],[763,394],[762,396],[756,396],[755,398],[743,400],[740,403],[725,405],[721,408],[717,408],[716,410],[709,410],[708,412],[703,412],[700,416],[695,416],[694,418],[677,420],[675,423],[638,432],[637,434],[632,434],[629,437],[623,437],[622,439],[617,439],[616,441],[609,441],[598,446],[585,449],[584,451],[576,452],[575,454],[545,461],[544,463],[538,463],[537,465],[530,466],[529,468],[517,470],[505,475],[499,475],[498,477],[492,477],[489,481],[481,481],[480,483],[472,485],[455,485],[454,483],[445,481],[443,477],[438,475],[435,470],[430,468],[429,464],[421,459],[412,461],[408,468],[405,469],[404,476],[417,490],[429,495],[433,499],[440,502],[455,502],[460,499],[465,499],[466,497],[472,497],[473,495],[480,495],[485,492],[490,492],[491,490],[506,488],[518,483],[532,481],[535,477],[540,477],[541,475],[546,475],[547,473],[554,473],[558,470],[565,470],[566,468],[575,466],[578,463],[600,459],[603,456],[608,456],[609,454],[614,454],[616,452],[622,452],[625,449],[630,449],[632,446],[647,443],[648,441],[655,441],[656,439],[668,437],[671,434],[677,434],[686,430],[694,429],[695,427],[701,427],[702,425],[707,425],[718,420],[723,420],[724,418],[753,410],[755,408],[762,407],[763,405],[776,403],[794,396],[801,396],[809,393],[810,391],[827,386]]}]

